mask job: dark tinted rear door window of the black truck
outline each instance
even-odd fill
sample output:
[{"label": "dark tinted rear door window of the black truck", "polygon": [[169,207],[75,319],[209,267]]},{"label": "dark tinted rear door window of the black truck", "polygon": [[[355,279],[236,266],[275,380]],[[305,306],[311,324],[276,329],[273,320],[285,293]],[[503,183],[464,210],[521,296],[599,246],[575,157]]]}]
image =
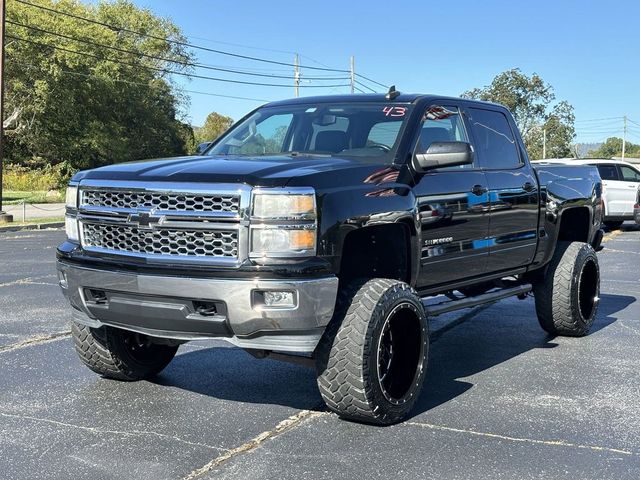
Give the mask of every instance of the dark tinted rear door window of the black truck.
[{"label": "dark tinted rear door window of the black truck", "polygon": [[516,168],[521,165],[511,126],[501,112],[471,108],[476,148],[486,168]]}]

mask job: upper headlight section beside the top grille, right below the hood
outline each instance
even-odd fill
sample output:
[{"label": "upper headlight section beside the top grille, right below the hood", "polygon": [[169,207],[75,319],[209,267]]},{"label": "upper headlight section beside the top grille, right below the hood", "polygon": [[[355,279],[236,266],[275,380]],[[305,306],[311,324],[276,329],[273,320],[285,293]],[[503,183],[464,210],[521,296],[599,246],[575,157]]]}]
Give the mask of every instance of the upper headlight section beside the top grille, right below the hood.
[{"label": "upper headlight section beside the top grille, right below the hood", "polygon": [[312,220],[316,218],[316,197],[312,193],[256,193],[253,217]]}]

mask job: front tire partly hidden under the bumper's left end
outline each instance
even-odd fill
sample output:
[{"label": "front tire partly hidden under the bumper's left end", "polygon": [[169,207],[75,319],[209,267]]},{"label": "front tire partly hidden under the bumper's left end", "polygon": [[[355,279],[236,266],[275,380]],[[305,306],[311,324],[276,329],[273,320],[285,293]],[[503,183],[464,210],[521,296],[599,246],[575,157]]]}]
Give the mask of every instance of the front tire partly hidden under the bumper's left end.
[{"label": "front tire partly hidden under the bumper's left end", "polygon": [[103,377],[134,381],[160,373],[178,346],[152,343],[146,335],[113,327],[89,328],[73,323],[71,335],[82,363]]}]

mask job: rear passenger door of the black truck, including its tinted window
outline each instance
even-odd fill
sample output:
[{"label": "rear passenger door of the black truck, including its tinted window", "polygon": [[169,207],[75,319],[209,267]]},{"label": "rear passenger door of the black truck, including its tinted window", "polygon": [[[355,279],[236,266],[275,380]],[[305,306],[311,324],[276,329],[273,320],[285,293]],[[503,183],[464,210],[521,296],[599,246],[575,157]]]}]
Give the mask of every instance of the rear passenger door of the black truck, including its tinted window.
[{"label": "rear passenger door of the black truck, including its tinted window", "polygon": [[489,272],[528,265],[537,247],[538,180],[500,109],[468,109],[480,166],[489,188]]}]

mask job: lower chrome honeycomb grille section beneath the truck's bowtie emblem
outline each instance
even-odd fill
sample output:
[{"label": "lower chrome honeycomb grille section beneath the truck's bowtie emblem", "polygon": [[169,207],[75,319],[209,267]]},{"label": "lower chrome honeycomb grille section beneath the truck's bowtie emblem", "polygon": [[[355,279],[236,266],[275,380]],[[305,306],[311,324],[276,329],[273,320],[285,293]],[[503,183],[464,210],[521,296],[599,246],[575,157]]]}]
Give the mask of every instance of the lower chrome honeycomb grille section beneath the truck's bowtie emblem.
[{"label": "lower chrome honeycomb grille section beneath the truck's bowtie emblem", "polygon": [[143,230],[130,225],[82,222],[83,246],[114,253],[237,258],[237,230]]}]

